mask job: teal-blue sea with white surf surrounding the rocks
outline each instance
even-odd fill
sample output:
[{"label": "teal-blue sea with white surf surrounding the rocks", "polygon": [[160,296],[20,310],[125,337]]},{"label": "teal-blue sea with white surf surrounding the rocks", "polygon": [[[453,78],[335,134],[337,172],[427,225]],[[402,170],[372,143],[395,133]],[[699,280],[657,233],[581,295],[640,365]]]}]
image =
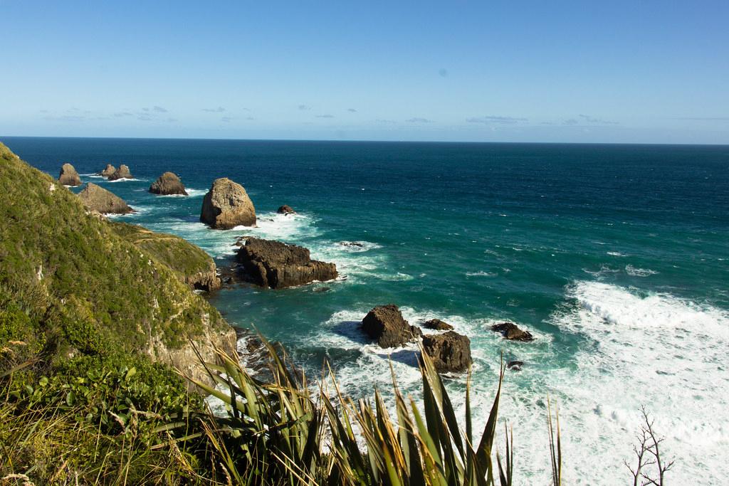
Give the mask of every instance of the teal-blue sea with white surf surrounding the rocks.
[{"label": "teal-blue sea with white surf surrounding the rocks", "polygon": [[[628,482],[642,404],[677,458],[674,484],[729,477],[729,146],[2,141],[52,176],[71,162],[139,211],[121,220],[187,238],[219,265],[246,234],[335,262],[346,278],[238,286],[211,302],[284,342],[313,375],[330,358],[348,393],[386,388],[389,356],[402,388],[418,390],[413,348],[381,350],[356,328],[380,304],[469,336],[479,423],[500,353],[525,361],[507,372],[500,411],[526,483],[547,482],[547,395],[560,409],[568,484]],[[136,179],[93,177],[106,162]],[[150,195],[164,171],[190,196]],[[222,176],[246,187],[257,228],[198,222]],[[276,215],[282,204],[299,214]],[[341,244],[351,241],[362,246]],[[505,342],[488,329],[503,320],[537,340]],[[448,386],[461,406],[463,378]]]}]

